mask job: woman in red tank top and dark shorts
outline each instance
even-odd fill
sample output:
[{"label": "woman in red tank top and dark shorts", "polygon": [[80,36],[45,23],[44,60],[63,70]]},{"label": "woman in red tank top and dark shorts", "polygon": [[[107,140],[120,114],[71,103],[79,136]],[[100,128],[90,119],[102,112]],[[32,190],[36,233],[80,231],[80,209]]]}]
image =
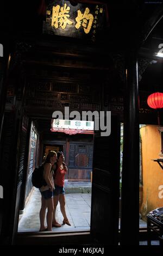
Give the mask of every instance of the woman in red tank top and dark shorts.
[{"label": "woman in red tank top and dark shorts", "polygon": [[60,203],[60,210],[64,217],[63,224],[71,225],[68,221],[66,210],[65,210],[65,174],[67,172],[67,166],[64,163],[65,157],[62,152],[57,153],[57,167],[54,172],[54,211],[53,211],[53,223],[52,227],[61,227],[61,224],[59,224],[55,219],[55,211],[58,205],[58,201]]}]

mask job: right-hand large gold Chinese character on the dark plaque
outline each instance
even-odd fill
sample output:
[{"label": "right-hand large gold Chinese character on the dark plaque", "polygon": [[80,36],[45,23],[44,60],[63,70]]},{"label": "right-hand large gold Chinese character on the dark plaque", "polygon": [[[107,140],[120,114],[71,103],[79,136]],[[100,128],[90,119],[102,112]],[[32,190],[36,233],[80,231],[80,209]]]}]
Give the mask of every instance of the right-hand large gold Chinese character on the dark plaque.
[{"label": "right-hand large gold Chinese character on the dark plaque", "polygon": [[86,8],[84,14],[80,10],[78,10],[78,16],[76,17],[76,28],[78,29],[80,26],[84,27],[84,32],[87,34],[90,32],[92,23],[93,23],[93,15],[89,13],[90,9]]}]

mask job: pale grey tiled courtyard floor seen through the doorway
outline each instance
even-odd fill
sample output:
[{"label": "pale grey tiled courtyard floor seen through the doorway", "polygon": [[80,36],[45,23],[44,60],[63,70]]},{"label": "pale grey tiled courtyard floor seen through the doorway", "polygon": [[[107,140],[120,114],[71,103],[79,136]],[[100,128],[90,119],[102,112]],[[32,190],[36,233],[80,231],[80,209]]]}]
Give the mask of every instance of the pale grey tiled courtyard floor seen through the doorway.
[{"label": "pale grey tiled courtyard floor seen through the doorway", "polygon": [[[62,231],[85,231],[90,230],[91,216],[91,193],[66,193],[66,213],[71,227],[61,225],[60,228],[53,228],[53,232]],[[39,212],[41,207],[41,194],[35,188],[30,200],[26,206],[23,215],[20,215],[18,232],[39,231],[40,219]],[[63,217],[60,212],[59,204],[57,206],[57,221],[62,223]],[[140,220],[140,227],[147,227],[147,223]]]}]

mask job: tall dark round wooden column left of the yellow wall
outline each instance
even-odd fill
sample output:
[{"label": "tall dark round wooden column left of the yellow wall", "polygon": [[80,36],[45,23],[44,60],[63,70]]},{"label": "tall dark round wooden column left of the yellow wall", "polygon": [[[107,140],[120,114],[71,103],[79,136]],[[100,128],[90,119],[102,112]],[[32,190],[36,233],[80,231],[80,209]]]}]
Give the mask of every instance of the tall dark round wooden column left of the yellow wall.
[{"label": "tall dark round wooden column left of the yellow wall", "polygon": [[136,52],[126,58],[121,245],[139,245],[139,90]]}]

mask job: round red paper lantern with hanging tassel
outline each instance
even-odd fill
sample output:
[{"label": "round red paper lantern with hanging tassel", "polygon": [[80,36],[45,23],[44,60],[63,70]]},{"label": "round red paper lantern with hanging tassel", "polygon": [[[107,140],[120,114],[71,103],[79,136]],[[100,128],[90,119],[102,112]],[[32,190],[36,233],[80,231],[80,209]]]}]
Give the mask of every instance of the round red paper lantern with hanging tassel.
[{"label": "round red paper lantern with hanging tassel", "polygon": [[148,106],[158,109],[158,125],[160,125],[159,108],[163,107],[163,93],[153,93],[148,96]]}]

